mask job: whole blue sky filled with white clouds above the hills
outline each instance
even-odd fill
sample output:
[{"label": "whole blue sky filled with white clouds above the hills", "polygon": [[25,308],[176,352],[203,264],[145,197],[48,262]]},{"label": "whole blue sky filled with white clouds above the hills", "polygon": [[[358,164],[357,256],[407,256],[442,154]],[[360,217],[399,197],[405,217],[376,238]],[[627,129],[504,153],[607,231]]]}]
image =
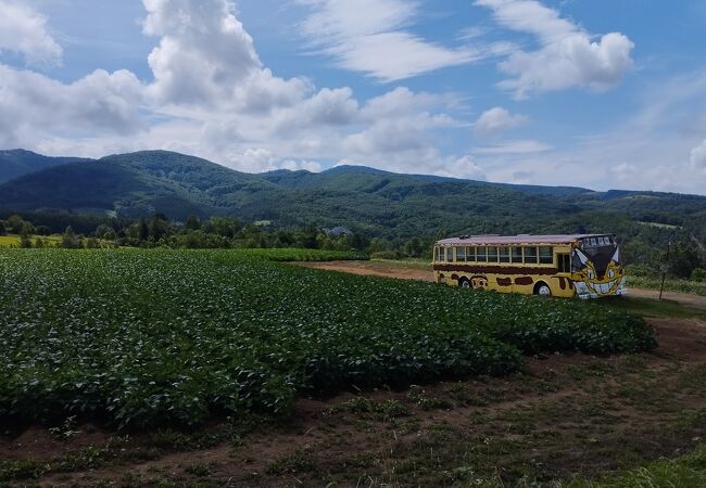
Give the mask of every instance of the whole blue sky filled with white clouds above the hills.
[{"label": "whole blue sky filled with white clouds above the hills", "polygon": [[706,2],[0,0],[0,149],[706,194]]}]

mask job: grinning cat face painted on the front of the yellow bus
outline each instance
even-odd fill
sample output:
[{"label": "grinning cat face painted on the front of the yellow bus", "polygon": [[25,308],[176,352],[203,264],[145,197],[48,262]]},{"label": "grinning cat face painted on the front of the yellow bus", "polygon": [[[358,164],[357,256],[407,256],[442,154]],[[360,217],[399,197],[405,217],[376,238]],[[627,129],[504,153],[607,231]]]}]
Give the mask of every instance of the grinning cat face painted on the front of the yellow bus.
[{"label": "grinning cat face painted on the front of the yellow bus", "polygon": [[576,293],[581,298],[622,295],[626,292],[625,270],[620,266],[620,249],[573,249],[572,278]]}]

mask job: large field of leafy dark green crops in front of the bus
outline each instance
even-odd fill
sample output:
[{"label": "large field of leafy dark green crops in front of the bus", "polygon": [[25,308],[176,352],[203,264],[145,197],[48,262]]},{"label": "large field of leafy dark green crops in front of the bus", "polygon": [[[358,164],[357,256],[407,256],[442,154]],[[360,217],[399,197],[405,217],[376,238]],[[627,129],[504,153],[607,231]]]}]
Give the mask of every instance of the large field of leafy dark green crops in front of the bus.
[{"label": "large field of leafy dark green crops in front of the bus", "polygon": [[522,351],[655,346],[641,319],[595,304],[272,260],[291,256],[0,251],[0,420],[194,424],[283,413],[298,394],[502,374]]}]

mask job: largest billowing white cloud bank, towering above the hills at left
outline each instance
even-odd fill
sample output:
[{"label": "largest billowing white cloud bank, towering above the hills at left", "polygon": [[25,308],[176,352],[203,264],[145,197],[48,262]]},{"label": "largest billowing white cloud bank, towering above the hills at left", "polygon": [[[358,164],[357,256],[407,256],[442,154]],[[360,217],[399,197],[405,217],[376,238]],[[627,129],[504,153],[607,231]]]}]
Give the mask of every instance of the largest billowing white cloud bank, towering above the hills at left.
[{"label": "largest billowing white cloud bank, towering above the hills at left", "polygon": [[[0,144],[88,156],[163,149],[244,171],[317,171],[320,160],[351,157],[399,171],[456,168],[481,177],[470,159],[438,149],[434,129],[461,124],[442,112],[453,98],[398,87],[361,104],[348,87],[316,91],[305,78],[283,79],[263,66],[232,2],[143,3],[143,31],[159,38],[149,55],[153,81],[97,70],[64,84],[0,65]],[[355,22],[343,29],[401,27],[395,9],[376,17],[378,27]]]}]

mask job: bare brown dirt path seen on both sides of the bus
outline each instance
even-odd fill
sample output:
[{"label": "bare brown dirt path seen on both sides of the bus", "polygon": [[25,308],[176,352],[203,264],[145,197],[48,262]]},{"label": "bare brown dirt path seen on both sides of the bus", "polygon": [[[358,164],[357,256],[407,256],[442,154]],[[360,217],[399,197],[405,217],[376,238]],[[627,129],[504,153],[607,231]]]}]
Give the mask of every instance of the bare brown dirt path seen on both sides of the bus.
[{"label": "bare brown dirt path seen on both sides of the bus", "polygon": [[[390,265],[383,261],[329,261],[329,262],[297,262],[306,268],[327,269],[329,271],[342,271],[353,274],[368,274],[374,277],[399,278],[403,280],[433,281],[431,267],[429,270],[405,268]],[[658,298],[656,290],[628,287],[630,296],[641,298]],[[668,300],[678,301],[688,307],[706,310],[706,296],[692,295],[689,293],[665,292],[663,297]]]}]

